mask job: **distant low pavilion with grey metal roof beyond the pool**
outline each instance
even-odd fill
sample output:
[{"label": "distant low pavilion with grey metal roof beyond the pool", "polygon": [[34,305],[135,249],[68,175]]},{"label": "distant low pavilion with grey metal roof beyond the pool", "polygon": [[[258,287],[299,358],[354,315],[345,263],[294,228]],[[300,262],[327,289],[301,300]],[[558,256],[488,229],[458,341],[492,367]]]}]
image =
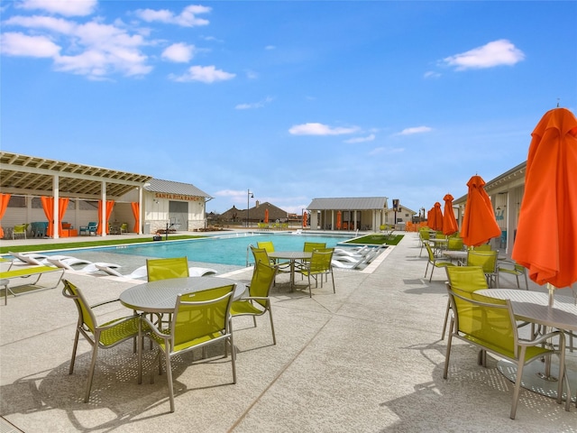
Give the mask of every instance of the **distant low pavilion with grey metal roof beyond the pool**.
[{"label": "distant low pavilion with grey metal roof beyond the pool", "polygon": [[314,198],[307,210],[311,228],[323,230],[372,230],[390,224],[388,198]]}]

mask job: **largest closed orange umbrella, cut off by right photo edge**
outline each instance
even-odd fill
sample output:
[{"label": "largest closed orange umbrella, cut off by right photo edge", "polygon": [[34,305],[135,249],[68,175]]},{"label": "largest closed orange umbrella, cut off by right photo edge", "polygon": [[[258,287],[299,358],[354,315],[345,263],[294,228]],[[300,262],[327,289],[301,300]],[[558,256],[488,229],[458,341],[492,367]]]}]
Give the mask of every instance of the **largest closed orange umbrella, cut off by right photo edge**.
[{"label": "largest closed orange umbrella, cut off by right photo edge", "polygon": [[537,284],[567,287],[577,281],[577,119],[555,108],[531,136],[512,257]]}]

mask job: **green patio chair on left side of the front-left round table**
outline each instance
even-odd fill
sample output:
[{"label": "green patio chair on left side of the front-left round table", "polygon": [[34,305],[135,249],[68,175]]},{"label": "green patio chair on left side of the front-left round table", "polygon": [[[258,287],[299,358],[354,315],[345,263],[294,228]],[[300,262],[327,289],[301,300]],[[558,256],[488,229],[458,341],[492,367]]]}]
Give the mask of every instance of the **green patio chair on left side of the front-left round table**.
[{"label": "green patio chair on left side of the front-left round table", "polygon": [[[78,336],[82,334],[88,343],[92,345],[92,360],[88,370],[87,388],[84,394],[84,402],[87,403],[90,398],[90,390],[92,388],[92,381],[96,366],[96,358],[98,349],[109,349],[115,345],[119,345],[126,340],[133,339],[138,336],[140,317],[130,315],[122,318],[114,318],[104,324],[99,325],[96,320],[93,309],[117,302],[118,299],[108,300],[95,305],[89,305],[87,299],[84,297],[82,290],[78,289],[74,284],[68,280],[62,280],[64,289],[62,294],[69,299],[74,300],[78,309],[78,323],[76,327],[76,336],[74,337],[74,345],[72,347],[72,358],[70,359],[69,374],[74,372],[74,363],[76,361],[76,351],[78,348]],[[128,310],[126,310],[128,312]],[[140,345],[139,345],[140,346]],[[140,351],[140,349],[139,349]],[[141,356],[139,352],[139,371]]]}]

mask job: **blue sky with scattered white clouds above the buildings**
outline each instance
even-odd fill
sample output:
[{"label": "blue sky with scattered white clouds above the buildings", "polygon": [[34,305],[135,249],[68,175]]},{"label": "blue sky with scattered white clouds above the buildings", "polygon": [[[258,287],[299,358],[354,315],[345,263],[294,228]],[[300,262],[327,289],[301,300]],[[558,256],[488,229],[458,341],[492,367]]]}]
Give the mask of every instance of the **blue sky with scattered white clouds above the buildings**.
[{"label": "blue sky with scattered white clouds above the buildings", "polygon": [[7,152],[418,211],[526,161],[577,108],[577,2],[5,1]]}]

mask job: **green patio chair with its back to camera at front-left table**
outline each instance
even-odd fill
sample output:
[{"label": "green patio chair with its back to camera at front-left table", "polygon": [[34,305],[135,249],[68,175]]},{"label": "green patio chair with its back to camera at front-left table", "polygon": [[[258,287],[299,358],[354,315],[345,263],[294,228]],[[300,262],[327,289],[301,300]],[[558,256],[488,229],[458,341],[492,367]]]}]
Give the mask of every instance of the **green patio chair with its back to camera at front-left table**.
[{"label": "green patio chair with its back to camera at front-left table", "polygon": [[[204,349],[208,345],[224,343],[224,357],[227,357],[227,349],[231,349],[233,383],[236,383],[233,329],[230,316],[235,287],[235,284],[231,284],[179,295],[168,329],[159,330],[148,318],[142,318],[143,335],[148,336],[159,348],[155,360],[159,366],[161,365],[161,355],[164,355],[169,384],[170,412],[174,412],[174,389],[170,363],[174,356],[197,348]],[[155,370],[155,368],[151,368],[151,383],[154,382]]]}]

